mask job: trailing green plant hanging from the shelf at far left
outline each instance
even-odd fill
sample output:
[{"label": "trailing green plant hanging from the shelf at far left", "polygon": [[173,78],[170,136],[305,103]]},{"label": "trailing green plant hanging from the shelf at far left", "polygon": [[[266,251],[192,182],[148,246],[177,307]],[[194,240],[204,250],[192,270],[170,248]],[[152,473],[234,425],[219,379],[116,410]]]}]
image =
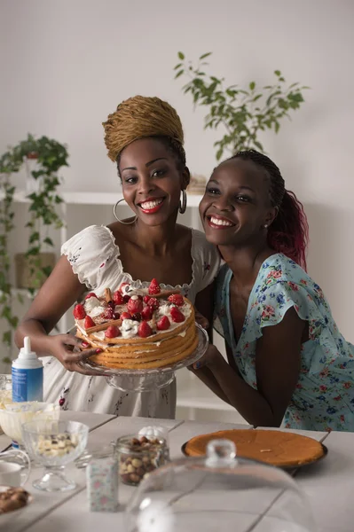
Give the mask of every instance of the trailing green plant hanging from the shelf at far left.
[{"label": "trailing green plant hanging from the shelf at far left", "polygon": [[[58,193],[58,172],[60,168],[67,166],[67,159],[65,145],[48,137],[36,139],[32,135],[28,135],[26,140],[0,157],[0,320],[6,324],[2,340],[9,353],[12,348],[12,330],[18,324],[18,317],[12,312],[12,260],[8,251],[9,234],[15,226],[13,200],[16,189],[11,176],[19,172],[28,160],[35,161],[35,166],[29,170],[30,178],[36,186],[28,194],[28,250],[16,257],[20,274],[18,287],[26,287],[33,294],[51,273],[55,262],[55,255],[48,261],[49,257],[43,254],[43,249],[53,247],[48,235],[49,228],[54,226],[58,229],[63,225],[56,208],[63,201]],[[20,293],[18,297],[21,298]]]}]

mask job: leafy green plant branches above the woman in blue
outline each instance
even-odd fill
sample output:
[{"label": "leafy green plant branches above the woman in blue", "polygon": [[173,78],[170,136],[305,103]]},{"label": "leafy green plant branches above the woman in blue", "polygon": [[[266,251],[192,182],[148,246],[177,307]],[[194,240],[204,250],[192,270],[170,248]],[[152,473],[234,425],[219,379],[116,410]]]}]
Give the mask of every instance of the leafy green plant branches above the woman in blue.
[{"label": "leafy green plant branches above the woman in blue", "polygon": [[283,118],[290,118],[290,112],[303,104],[303,90],[299,83],[287,85],[279,70],[274,71],[275,82],[258,88],[256,82],[249,82],[247,88],[238,85],[224,86],[224,78],[208,75],[203,70],[212,52],[204,53],[196,65],[178,52],[178,63],[174,67],[175,79],[185,76],[188,82],[183,87],[185,94],[191,93],[194,106],[206,106],[204,129],[223,129],[223,137],[217,140],[216,160],[224,151],[237,153],[240,150],[256,149],[264,152],[259,139],[260,131],[272,129],[278,133]]}]

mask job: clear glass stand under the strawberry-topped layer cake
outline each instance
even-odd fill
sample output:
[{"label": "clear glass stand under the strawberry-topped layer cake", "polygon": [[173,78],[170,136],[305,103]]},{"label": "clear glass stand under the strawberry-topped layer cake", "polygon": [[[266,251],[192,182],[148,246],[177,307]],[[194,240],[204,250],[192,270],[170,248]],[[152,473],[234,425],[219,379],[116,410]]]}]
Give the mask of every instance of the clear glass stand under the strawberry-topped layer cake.
[{"label": "clear glass stand under the strawberry-topped layer cake", "polygon": [[87,370],[93,370],[97,375],[106,377],[106,381],[110,386],[122,390],[122,392],[150,392],[156,388],[168,386],[175,379],[175,372],[177,370],[194,364],[194,362],[204,355],[208,348],[207,332],[201,325],[195,324],[195,326],[197,327],[199,337],[197,348],[193,351],[192,355],[187,356],[175,364],[170,364],[162,368],[154,368],[152,370],[110,369],[106,366],[90,362],[90,360],[85,360],[80,365]]}]

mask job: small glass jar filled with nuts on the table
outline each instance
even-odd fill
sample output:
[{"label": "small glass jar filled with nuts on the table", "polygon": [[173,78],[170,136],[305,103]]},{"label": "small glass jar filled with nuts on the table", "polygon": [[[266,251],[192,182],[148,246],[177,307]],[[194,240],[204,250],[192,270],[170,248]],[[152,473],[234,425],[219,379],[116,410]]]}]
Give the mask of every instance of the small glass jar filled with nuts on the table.
[{"label": "small glass jar filled with nuts on the table", "polygon": [[169,447],[161,436],[122,436],[116,442],[116,452],[120,479],[132,486],[138,486],[146,474],[169,461]]}]

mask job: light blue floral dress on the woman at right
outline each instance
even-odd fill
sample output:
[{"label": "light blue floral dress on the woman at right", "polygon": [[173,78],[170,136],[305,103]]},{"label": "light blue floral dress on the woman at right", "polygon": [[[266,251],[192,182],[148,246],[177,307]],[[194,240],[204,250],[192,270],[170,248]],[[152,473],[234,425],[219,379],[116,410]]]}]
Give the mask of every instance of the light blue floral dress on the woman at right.
[{"label": "light blue floral dress on the woman at right", "polygon": [[[236,343],[230,312],[232,270],[224,265],[216,281],[216,331],[224,336],[248,385],[256,388],[256,341],[264,327],[277,325],[288,309],[309,323],[301,370],[283,426],[354,431],[354,346],[344,340],[320,287],[294,261],[273,254],[262,264],[248,299]],[[287,364],[287,353],[284,353]]]}]

